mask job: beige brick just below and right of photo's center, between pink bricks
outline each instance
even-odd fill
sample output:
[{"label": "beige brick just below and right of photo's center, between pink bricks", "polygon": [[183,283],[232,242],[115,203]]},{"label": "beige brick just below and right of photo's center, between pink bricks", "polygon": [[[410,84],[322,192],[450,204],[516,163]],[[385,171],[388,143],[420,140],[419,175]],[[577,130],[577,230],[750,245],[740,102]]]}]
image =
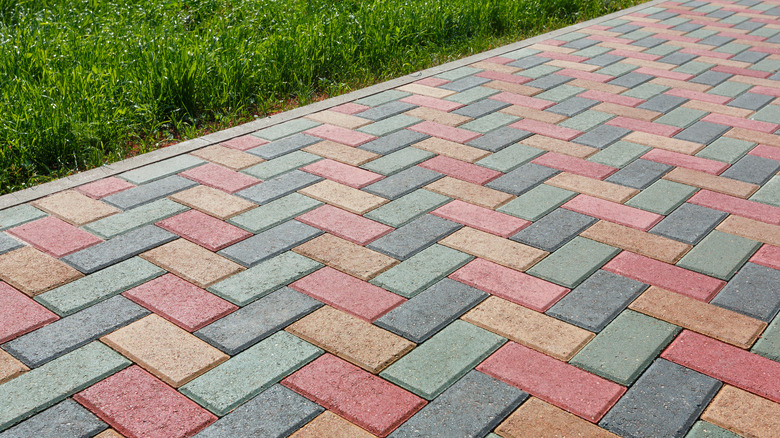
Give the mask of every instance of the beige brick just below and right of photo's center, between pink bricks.
[{"label": "beige brick just below and right of photo's center, between pink bricks", "polygon": [[470,227],[461,228],[439,243],[518,271],[525,271],[549,254],[547,251]]}]

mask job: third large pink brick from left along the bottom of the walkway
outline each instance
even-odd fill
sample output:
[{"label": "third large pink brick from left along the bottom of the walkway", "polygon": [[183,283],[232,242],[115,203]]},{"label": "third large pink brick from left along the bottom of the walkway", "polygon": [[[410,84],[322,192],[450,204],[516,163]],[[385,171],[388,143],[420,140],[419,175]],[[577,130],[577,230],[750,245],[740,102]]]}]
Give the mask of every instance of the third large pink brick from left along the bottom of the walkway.
[{"label": "third large pink brick from left along the bottom of the walkway", "polygon": [[617,383],[511,341],[477,366],[477,371],[593,423],[626,392]]}]

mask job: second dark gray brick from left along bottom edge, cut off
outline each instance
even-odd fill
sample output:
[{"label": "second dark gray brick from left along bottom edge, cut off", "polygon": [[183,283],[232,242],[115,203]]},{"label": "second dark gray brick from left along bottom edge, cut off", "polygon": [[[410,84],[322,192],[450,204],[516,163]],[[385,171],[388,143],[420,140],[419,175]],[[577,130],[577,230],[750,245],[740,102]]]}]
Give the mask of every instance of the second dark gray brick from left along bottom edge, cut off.
[{"label": "second dark gray brick from left along bottom edge, cut off", "polygon": [[282,385],[274,385],[203,429],[197,438],[284,438],[325,409]]}]

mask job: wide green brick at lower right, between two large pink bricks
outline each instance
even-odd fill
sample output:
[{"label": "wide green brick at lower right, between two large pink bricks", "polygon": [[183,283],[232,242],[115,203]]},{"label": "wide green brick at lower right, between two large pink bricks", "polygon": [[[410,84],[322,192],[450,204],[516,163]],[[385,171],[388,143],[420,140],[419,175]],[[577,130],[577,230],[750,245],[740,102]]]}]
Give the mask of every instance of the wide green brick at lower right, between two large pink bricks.
[{"label": "wide green brick at lower right, between two large pink bricks", "polygon": [[679,331],[676,325],[624,310],[569,363],[628,386]]}]

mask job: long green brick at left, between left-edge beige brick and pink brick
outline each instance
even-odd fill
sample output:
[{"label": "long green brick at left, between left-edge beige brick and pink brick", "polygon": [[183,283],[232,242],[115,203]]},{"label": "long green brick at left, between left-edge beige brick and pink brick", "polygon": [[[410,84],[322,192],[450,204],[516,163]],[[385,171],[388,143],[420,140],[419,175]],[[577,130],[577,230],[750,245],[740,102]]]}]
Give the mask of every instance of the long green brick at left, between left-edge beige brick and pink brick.
[{"label": "long green brick at left, between left-edge beige brick and pink brick", "polygon": [[163,274],[164,269],[140,257],[133,257],[42,293],[35,297],[35,301],[60,316],[66,316]]}]

